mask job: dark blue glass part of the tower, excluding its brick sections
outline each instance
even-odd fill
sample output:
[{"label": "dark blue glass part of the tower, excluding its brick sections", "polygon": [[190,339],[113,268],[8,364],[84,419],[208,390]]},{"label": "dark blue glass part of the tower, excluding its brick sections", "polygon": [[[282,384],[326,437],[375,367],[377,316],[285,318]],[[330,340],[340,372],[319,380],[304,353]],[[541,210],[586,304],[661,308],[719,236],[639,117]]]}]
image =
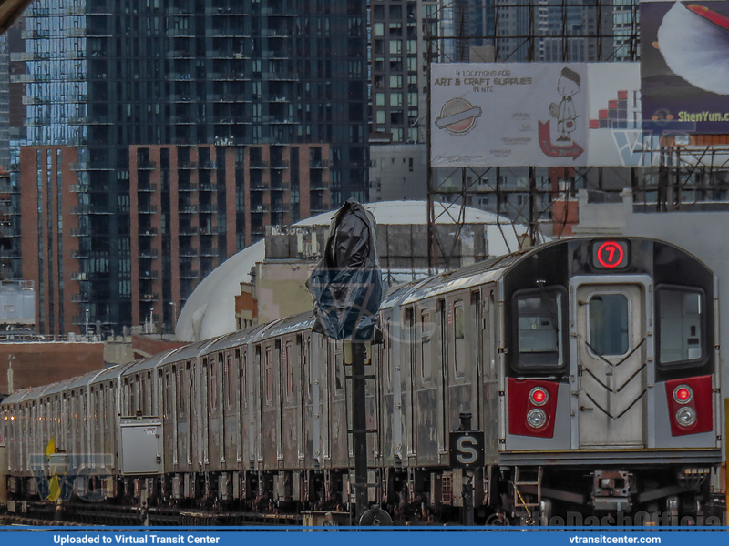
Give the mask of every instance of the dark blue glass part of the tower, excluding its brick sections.
[{"label": "dark blue glass part of the tower, excluding its brick sections", "polygon": [[332,205],[367,200],[365,0],[36,0],[24,37],[27,145],[76,148],[92,324],[137,323],[130,147],[329,144]]}]

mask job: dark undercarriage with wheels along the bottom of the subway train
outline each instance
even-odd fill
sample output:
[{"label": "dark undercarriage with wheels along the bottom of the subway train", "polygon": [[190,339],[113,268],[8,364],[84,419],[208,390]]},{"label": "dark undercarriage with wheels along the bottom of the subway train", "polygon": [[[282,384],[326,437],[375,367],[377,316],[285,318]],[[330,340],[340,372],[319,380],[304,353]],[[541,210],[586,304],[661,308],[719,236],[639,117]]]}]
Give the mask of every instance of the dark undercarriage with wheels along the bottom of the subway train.
[{"label": "dark undercarriage with wheels along the bottom of the subway train", "polygon": [[[723,508],[710,488],[713,470],[674,465],[371,469],[368,497],[395,525],[721,525]],[[221,524],[356,523],[350,516],[354,494],[347,470],[67,480],[73,483],[63,498],[41,501],[35,478],[8,478],[8,511],[35,511],[51,520],[142,525],[202,524],[210,518]],[[88,515],[97,509],[97,516]]]}]

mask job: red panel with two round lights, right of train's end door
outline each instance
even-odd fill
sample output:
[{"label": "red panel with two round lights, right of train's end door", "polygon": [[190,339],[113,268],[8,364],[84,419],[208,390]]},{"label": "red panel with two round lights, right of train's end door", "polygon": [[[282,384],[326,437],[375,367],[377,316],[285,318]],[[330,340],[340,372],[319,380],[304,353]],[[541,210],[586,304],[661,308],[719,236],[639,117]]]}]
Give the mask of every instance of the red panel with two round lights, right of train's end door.
[{"label": "red panel with two round lights, right of train's end door", "polygon": [[666,398],[673,436],[714,430],[712,376],[666,381]]}]

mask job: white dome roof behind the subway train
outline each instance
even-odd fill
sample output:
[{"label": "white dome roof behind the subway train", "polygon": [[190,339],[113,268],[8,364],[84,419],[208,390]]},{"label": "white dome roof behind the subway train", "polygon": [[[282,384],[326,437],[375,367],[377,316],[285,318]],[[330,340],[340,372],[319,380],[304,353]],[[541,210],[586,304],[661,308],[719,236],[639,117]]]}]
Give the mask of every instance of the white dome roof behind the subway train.
[{"label": "white dome roof behind the subway train", "polygon": [[[488,254],[500,256],[519,249],[518,235],[528,231],[526,226],[515,224],[505,217],[465,207],[436,203],[436,223],[455,224],[461,212],[467,224],[489,224],[487,227]],[[426,224],[426,201],[383,201],[368,203],[364,207],[375,215],[377,224]],[[329,226],[334,212],[306,218],[299,226]],[[190,294],[180,312],[175,327],[177,339],[199,341],[228,334],[236,330],[235,297],[241,294],[241,282],[251,282],[251,268],[265,258],[265,246],[259,241],[225,260],[210,275],[203,278]]]}]

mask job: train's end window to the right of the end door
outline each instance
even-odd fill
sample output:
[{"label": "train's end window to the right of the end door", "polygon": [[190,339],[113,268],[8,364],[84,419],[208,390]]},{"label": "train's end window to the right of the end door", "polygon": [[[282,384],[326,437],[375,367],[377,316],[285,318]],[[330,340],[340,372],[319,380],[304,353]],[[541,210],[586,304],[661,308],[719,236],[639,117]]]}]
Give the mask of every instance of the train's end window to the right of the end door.
[{"label": "train's end window to the right of the end door", "polygon": [[658,348],[661,364],[675,365],[705,356],[703,291],[657,287]]}]

